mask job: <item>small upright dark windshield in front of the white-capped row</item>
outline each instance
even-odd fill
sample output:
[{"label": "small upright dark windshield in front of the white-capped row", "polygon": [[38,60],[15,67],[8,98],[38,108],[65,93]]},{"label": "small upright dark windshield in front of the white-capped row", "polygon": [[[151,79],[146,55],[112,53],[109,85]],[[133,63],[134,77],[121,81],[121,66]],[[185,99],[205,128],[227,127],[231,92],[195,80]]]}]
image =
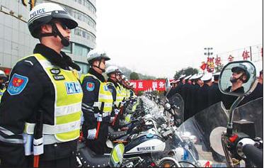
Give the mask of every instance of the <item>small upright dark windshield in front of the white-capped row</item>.
[{"label": "small upright dark windshield in front of the white-capped row", "polygon": [[184,119],[184,101],[180,94],[174,94],[168,99],[171,104],[172,113],[174,115],[173,119],[176,121],[176,126],[178,127],[183,123]]}]

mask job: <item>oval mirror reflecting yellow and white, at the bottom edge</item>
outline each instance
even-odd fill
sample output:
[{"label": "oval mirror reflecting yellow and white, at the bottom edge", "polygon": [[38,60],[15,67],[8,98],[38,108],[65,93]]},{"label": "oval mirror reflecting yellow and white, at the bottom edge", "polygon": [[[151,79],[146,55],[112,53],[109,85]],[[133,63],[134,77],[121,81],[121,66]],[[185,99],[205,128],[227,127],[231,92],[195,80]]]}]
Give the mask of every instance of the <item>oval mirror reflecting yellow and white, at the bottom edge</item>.
[{"label": "oval mirror reflecting yellow and white, at the bottom edge", "polygon": [[110,167],[121,167],[125,152],[125,146],[122,143],[117,143],[111,152],[109,158]]}]

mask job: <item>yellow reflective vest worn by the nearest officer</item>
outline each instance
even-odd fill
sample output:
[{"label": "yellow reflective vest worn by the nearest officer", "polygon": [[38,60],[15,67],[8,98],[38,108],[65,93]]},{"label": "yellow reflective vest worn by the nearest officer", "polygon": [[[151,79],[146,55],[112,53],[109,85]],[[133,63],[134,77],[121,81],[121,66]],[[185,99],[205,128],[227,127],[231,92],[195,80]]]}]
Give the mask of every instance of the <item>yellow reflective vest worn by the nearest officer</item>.
[{"label": "yellow reflective vest worn by the nearest officer", "polygon": [[[81,101],[83,99],[80,82],[71,70],[65,70],[52,65],[40,54],[31,56],[34,56],[40,62],[47,76],[50,77],[55,91],[54,125],[43,124],[42,133],[44,135],[54,135],[60,142],[67,142],[79,138]],[[33,134],[34,128],[35,123],[25,123],[25,133]]]}]

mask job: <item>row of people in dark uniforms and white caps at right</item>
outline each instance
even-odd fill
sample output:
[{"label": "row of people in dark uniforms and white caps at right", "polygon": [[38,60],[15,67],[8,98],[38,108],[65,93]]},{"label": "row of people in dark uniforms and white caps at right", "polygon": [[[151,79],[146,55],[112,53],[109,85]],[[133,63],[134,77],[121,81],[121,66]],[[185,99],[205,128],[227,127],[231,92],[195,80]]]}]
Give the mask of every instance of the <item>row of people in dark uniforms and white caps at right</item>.
[{"label": "row of people in dark uniforms and white caps at right", "polygon": [[[243,93],[243,84],[250,78],[246,67],[239,65],[231,69],[231,86],[226,88],[226,92]],[[168,99],[174,94],[180,94],[184,101],[184,120],[194,116],[196,113],[212,106],[214,103],[223,102],[226,109],[231,108],[237,96],[223,94],[219,89],[220,72],[212,74],[181,75],[178,80],[171,82],[171,90],[168,91]],[[254,99],[263,97],[263,70],[260,71],[258,84],[251,94],[246,96],[239,106]]]}]

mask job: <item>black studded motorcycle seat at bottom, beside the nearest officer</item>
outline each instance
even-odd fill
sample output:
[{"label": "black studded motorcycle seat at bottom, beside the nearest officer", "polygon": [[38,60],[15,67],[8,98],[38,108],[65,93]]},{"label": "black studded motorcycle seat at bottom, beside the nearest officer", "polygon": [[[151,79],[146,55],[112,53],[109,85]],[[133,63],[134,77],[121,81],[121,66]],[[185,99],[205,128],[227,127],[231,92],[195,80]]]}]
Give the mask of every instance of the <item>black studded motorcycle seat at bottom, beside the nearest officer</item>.
[{"label": "black studded motorcycle seat at bottom, beside the nearest officer", "polygon": [[96,155],[84,142],[78,143],[76,155],[79,157],[83,167],[107,167],[109,156]]}]

